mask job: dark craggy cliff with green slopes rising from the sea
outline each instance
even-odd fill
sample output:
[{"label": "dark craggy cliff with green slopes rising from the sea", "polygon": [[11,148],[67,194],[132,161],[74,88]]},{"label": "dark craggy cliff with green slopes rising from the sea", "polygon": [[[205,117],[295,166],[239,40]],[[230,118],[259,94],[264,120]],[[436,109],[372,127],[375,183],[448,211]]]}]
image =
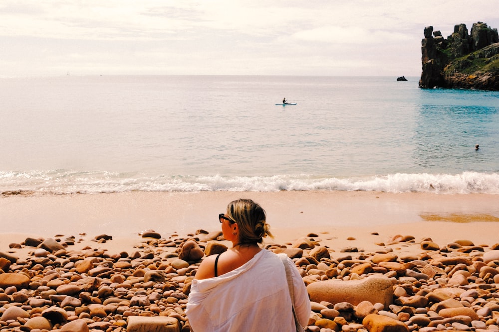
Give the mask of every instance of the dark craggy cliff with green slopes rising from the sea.
[{"label": "dark craggy cliff with green slopes rising from the sea", "polygon": [[454,26],[445,39],[433,26],[425,28],[421,42],[423,72],[419,87],[465,88],[499,91],[498,30],[487,23]]}]

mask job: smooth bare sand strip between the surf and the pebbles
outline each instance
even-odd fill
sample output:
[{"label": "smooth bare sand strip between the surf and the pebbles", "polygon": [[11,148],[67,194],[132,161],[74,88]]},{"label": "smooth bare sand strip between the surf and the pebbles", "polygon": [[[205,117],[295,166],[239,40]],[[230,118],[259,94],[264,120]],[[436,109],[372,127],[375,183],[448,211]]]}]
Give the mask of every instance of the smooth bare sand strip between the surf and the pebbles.
[{"label": "smooth bare sand strip between the surf and the pebbles", "polygon": [[[200,228],[219,230],[218,214],[237,198],[251,198],[266,210],[275,235],[266,243],[291,243],[309,233],[316,233],[322,244],[337,251],[346,246],[375,251],[397,234],[413,235],[416,240],[431,238],[440,245],[456,239],[469,239],[477,245],[499,242],[499,195],[127,192],[2,196],[0,251],[27,236],[73,235],[80,240],[75,249],[97,247],[91,239],[108,234],[113,240],[99,245],[120,252],[140,242],[138,234],[146,229],[164,238],[187,236]],[[415,250],[414,246],[394,248]]]}]

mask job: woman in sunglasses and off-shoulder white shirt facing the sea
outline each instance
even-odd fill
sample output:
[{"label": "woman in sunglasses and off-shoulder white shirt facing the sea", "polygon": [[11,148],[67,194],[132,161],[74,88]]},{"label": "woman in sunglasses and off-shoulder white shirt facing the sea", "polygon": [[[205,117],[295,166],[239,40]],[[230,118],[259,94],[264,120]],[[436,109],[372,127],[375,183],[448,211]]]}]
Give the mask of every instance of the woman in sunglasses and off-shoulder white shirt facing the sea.
[{"label": "woman in sunglasses and off-shoulder white shirt facing the sea", "polygon": [[[232,249],[206,257],[191,285],[186,314],[194,332],[296,331],[286,272],[281,259],[258,244],[272,236],[265,211],[251,200],[229,203],[219,215]],[[306,326],[308,294],[296,266],[292,272],[294,308]]]}]

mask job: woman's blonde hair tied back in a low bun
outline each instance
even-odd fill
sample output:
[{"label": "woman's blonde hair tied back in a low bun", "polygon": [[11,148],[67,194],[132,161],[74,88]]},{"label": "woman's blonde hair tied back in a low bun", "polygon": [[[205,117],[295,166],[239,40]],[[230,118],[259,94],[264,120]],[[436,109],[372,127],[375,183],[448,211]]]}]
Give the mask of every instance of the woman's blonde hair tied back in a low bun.
[{"label": "woman's blonde hair tied back in a low bun", "polygon": [[265,221],[265,210],[258,203],[248,199],[232,201],[227,206],[227,215],[238,223],[238,244],[261,243],[262,238],[272,236]]}]

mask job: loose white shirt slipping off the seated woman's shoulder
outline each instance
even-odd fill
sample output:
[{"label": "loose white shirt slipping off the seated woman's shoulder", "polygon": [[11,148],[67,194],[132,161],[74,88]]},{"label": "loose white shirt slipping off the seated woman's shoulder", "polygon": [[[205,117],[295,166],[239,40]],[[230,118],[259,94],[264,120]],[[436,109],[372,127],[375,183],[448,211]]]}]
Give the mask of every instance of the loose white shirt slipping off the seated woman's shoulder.
[{"label": "loose white shirt slipping off the seated woman's shoulder", "polygon": [[[295,309],[306,325],[308,294],[293,265]],[[296,306],[298,304],[298,306]],[[186,314],[194,332],[295,331],[284,265],[268,250],[217,278],[194,280]]]}]

